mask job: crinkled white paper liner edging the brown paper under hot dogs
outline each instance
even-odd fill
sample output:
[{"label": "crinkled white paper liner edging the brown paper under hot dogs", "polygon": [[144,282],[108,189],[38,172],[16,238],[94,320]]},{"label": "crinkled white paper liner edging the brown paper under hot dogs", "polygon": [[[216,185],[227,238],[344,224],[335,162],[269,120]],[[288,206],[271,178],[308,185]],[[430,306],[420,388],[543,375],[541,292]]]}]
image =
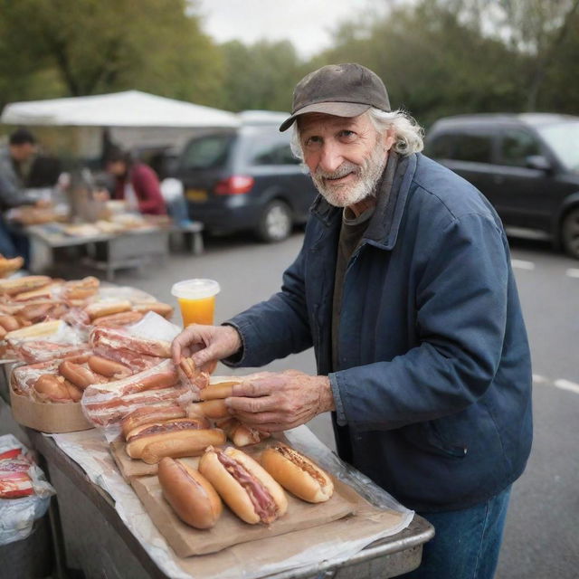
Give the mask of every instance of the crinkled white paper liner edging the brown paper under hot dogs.
[{"label": "crinkled white paper liner edging the brown paper under hot dogs", "polygon": [[[356,555],[365,546],[374,541],[392,536],[408,527],[413,519],[413,511],[404,508],[383,489],[377,487],[370,479],[361,473],[351,469],[330,451],[318,438],[309,431],[307,426],[299,426],[286,435],[293,446],[307,451],[308,455],[318,461],[324,468],[331,470],[332,474],[346,484],[356,489],[363,497],[379,508],[389,508],[403,515],[401,522],[396,527],[387,528],[372,536],[364,536],[357,540],[332,541],[317,543],[307,551],[302,551],[298,556],[285,559],[276,565],[259,569],[248,565],[230,569],[223,574],[208,576],[203,579],[257,579],[268,574],[281,573],[289,569],[299,569],[309,565],[318,565],[322,560],[331,565],[339,565],[353,555]],[[48,436],[48,435],[47,435]],[[119,517],[131,533],[137,537],[140,544],[148,555],[155,561],[157,566],[169,577],[175,579],[197,579],[195,575],[186,574],[176,563],[172,550],[166,544],[166,540],[148,517],[142,503],[130,486],[122,479],[119,470],[109,454],[107,442],[98,431],[69,432],[66,434],[51,435],[58,446],[68,454],[72,460],[78,462],[84,469],[90,480],[105,489],[115,501],[115,507]],[[249,562],[251,563],[251,562]]]}]

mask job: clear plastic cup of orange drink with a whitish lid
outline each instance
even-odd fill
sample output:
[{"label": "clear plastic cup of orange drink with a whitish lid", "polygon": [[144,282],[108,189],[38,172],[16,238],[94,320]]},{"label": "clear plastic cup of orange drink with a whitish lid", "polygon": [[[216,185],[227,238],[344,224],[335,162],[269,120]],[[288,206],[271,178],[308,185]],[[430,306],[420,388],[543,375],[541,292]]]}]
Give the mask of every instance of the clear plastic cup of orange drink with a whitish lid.
[{"label": "clear plastic cup of orange drink with a whitish lid", "polygon": [[171,288],[171,294],[179,302],[183,327],[191,324],[214,323],[215,296],[221,288],[215,280],[177,281]]}]

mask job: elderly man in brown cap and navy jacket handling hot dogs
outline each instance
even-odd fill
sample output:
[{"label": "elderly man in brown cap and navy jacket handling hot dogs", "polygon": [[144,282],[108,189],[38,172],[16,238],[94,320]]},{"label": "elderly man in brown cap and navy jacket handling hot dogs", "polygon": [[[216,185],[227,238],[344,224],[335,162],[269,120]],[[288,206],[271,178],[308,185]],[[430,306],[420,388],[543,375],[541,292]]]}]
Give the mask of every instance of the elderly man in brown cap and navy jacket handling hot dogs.
[{"label": "elderly man in brown cap and navy jacket handling hot dogs", "polygon": [[332,411],[340,457],[436,529],[410,576],[492,577],[532,437],[498,216],[420,154],[420,128],[363,66],[308,74],[290,126],[321,194],[298,258],[279,293],[221,327],[187,327],[174,357],[257,366],[313,345],[318,375],[255,375],[235,386],[233,415],[276,432]]}]

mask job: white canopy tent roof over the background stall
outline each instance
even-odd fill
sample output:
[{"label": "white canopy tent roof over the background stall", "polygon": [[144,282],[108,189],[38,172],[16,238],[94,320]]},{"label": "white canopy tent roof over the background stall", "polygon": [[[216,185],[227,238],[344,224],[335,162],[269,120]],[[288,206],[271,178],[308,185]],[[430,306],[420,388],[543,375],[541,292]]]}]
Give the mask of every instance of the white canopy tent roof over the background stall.
[{"label": "white canopy tent roof over the background stall", "polygon": [[206,128],[234,128],[241,119],[232,112],[183,100],[127,90],[90,97],[29,100],[5,106],[0,122],[33,127],[76,127],[78,154],[99,155],[102,128],[124,148],[179,148],[192,133]]}]

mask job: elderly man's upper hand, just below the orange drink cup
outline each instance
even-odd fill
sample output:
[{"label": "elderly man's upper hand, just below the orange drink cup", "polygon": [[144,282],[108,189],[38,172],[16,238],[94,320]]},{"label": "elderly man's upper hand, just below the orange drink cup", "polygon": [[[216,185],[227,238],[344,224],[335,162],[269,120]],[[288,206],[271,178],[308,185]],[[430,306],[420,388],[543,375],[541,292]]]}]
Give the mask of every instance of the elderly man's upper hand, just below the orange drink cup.
[{"label": "elderly man's upper hand, just below the orange drink cup", "polygon": [[182,357],[192,357],[195,366],[213,371],[218,360],[232,356],[242,347],[242,338],[233,326],[193,324],[173,340],[171,354],[175,364]]}]

